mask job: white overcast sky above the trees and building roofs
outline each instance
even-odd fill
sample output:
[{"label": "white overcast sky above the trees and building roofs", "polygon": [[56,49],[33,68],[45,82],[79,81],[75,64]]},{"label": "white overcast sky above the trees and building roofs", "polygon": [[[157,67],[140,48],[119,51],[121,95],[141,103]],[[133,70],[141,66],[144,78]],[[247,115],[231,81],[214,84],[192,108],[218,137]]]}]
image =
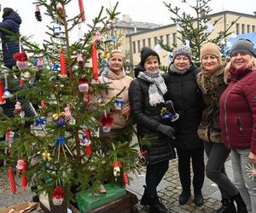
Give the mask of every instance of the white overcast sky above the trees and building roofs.
[{"label": "white overcast sky above the trees and building roofs", "polygon": [[[33,0],[1,0],[2,11],[0,12],[0,20],[2,21],[2,14],[4,7],[10,7],[20,14],[22,24],[20,33],[26,36],[33,35],[35,42],[41,42],[44,37],[44,32],[48,29],[45,27],[49,24],[49,20],[44,15],[44,8],[41,9],[43,21],[38,22],[34,17],[35,5],[32,4]],[[96,17],[102,6],[109,8],[115,5],[116,0],[84,0],[84,11],[86,21],[82,25],[86,31],[86,24],[91,23],[92,18]],[[189,11],[189,7],[181,3],[181,0],[166,0],[166,3],[173,3],[173,5],[183,6],[183,11]],[[191,4],[195,4],[195,0],[187,0]],[[237,3],[235,0],[212,0],[210,3],[212,13],[220,12],[223,10],[231,10],[240,13],[253,14],[256,11],[255,0],[242,0]],[[130,14],[132,20],[152,22],[161,25],[172,24],[170,20],[171,12],[168,11],[162,0],[119,0],[118,5],[119,19],[122,19],[123,14]],[[73,3],[67,8],[67,14],[79,13],[78,0],[73,0]],[[255,16],[256,18],[256,16]],[[79,35],[76,30],[73,34]]]}]

